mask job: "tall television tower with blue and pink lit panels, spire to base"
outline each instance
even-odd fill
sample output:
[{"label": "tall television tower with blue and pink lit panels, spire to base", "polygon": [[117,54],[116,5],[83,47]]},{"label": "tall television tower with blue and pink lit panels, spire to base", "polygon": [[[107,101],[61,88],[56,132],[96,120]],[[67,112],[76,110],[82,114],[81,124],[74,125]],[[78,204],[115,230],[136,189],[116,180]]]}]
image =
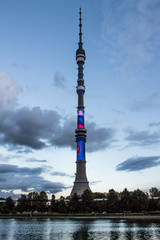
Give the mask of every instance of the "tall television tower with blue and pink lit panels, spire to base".
[{"label": "tall television tower with blue and pink lit panels, spire to base", "polygon": [[82,24],[81,24],[81,8],[80,8],[80,18],[79,18],[79,43],[78,50],[76,52],[76,61],[78,65],[78,80],[77,80],[77,94],[78,94],[78,107],[77,107],[77,129],[75,130],[75,137],[77,142],[77,161],[76,161],[76,178],[74,186],[71,192],[73,196],[74,193],[81,195],[86,189],[90,190],[87,176],[86,176],[86,157],[85,157],[85,142],[86,133],[84,125],[84,93],[85,86],[83,80],[83,65],[85,63],[85,51],[83,49],[82,43]]}]

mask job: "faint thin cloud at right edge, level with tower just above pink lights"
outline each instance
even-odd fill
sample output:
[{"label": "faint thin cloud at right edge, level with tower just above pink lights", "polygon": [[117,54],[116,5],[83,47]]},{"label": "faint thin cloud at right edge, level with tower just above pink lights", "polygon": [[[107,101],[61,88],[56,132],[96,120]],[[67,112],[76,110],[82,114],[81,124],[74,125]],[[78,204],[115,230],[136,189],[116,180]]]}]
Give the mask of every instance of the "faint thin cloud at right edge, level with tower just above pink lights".
[{"label": "faint thin cloud at right edge, level with tower just above pink lights", "polygon": [[136,100],[131,104],[131,109],[135,111],[157,109],[160,107],[160,92],[154,92],[150,96]]}]

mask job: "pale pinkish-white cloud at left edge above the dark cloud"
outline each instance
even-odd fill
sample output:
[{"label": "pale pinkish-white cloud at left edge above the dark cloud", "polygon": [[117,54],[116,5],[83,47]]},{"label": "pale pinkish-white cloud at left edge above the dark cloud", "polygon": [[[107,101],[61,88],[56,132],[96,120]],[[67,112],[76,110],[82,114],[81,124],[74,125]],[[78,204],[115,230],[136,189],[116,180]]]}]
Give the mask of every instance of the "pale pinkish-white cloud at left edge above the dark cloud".
[{"label": "pale pinkish-white cloud at left edge above the dark cloud", "polygon": [[18,88],[8,73],[0,72],[0,111],[16,106]]}]

